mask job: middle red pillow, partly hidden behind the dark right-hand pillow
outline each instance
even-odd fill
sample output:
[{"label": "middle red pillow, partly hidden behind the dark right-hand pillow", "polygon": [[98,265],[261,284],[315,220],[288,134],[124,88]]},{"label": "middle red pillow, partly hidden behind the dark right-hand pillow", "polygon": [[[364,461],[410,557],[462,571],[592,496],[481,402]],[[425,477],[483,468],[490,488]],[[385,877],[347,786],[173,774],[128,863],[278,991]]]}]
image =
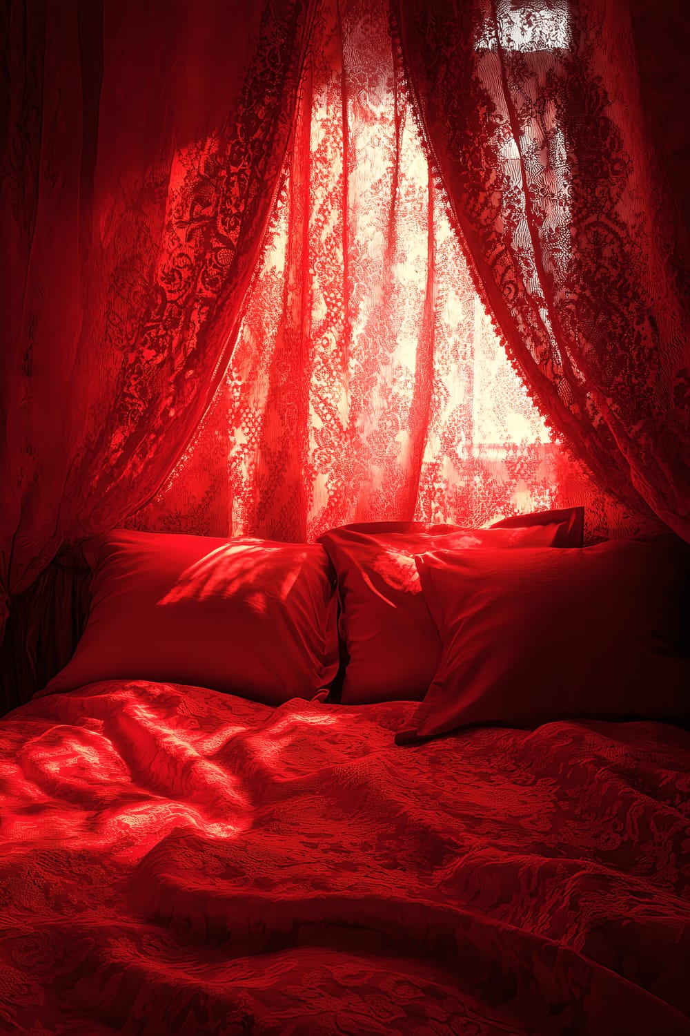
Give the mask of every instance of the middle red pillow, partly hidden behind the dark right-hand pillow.
[{"label": "middle red pillow, partly hidden behind the dark right-hand pillow", "polygon": [[521,521],[520,527],[491,529],[374,522],[320,538],[338,578],[344,704],[421,701],[433,679],[441,640],[420,593],[415,554],[439,547],[581,546],[581,508]]}]

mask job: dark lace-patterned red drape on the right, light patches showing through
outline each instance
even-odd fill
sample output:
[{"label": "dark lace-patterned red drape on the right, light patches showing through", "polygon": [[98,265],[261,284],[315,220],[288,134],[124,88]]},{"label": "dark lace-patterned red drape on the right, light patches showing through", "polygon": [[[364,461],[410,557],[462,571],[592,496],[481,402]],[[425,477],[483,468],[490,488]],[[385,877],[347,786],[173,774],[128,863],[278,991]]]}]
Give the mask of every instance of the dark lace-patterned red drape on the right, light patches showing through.
[{"label": "dark lace-patterned red drape on the right, light patches showing through", "polygon": [[430,161],[515,366],[602,487],[690,539],[683,5],[657,5],[651,33],[624,0],[393,9]]}]

